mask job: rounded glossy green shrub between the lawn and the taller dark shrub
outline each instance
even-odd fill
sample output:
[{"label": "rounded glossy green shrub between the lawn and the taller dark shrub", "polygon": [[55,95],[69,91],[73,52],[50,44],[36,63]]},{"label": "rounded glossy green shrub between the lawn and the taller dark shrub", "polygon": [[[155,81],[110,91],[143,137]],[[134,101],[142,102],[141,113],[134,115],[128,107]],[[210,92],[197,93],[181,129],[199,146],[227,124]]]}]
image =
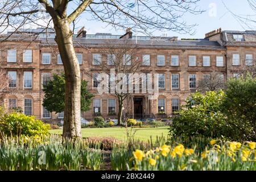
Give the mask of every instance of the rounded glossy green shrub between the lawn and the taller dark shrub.
[{"label": "rounded glossy green shrub between the lawn and the taller dark shrub", "polygon": [[[196,104],[192,102],[195,101]],[[204,136],[220,138],[230,136],[232,127],[226,123],[226,116],[221,113],[220,106],[224,100],[224,92],[196,92],[181,107],[174,117],[170,133],[173,136],[184,137]]]}]

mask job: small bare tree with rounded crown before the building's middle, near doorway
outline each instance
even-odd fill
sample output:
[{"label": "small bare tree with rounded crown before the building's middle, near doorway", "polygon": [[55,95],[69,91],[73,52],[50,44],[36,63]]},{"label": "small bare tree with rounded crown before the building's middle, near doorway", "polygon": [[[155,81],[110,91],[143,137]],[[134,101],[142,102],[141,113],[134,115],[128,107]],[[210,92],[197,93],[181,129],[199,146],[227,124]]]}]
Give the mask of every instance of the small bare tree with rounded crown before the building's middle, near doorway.
[{"label": "small bare tree with rounded crown before the building's middle, near doorway", "polygon": [[[150,72],[150,70],[148,67],[142,67],[146,60],[142,59],[142,55],[134,42],[127,39],[109,40],[105,42],[105,45],[101,49],[101,56],[106,59],[106,64],[98,63],[99,71],[96,72],[98,77],[88,76],[91,76],[96,83],[100,83],[102,80],[101,73],[107,77],[107,83],[102,84],[103,88],[100,89],[105,89],[118,98],[118,125],[120,125],[123,102],[129,94],[135,92],[135,86],[138,88],[136,88],[137,92],[141,92],[142,78],[139,74]],[[94,59],[93,61],[97,64],[98,60]]]}]

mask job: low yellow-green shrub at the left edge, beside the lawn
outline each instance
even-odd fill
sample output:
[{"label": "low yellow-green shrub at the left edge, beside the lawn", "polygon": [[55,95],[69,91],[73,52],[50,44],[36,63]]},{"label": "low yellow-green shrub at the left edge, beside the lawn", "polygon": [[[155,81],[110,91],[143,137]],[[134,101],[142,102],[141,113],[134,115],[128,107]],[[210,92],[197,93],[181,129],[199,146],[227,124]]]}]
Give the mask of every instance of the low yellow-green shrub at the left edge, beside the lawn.
[{"label": "low yellow-green shrub at the left edge, beside the lawn", "polygon": [[7,136],[44,136],[50,126],[42,121],[21,113],[5,114],[0,120],[0,131]]}]

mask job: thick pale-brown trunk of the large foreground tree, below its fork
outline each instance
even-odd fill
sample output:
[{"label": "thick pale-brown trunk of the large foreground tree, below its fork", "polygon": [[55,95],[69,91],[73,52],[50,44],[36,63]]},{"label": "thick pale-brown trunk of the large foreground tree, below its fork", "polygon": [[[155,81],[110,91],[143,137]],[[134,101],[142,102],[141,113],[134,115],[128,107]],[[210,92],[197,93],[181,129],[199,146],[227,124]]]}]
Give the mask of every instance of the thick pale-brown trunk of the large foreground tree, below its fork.
[{"label": "thick pale-brown trunk of the large foreground tree, below its fork", "polygon": [[81,76],[73,47],[73,33],[67,19],[58,19],[53,22],[56,31],[55,41],[65,71],[63,138],[81,138]]}]

